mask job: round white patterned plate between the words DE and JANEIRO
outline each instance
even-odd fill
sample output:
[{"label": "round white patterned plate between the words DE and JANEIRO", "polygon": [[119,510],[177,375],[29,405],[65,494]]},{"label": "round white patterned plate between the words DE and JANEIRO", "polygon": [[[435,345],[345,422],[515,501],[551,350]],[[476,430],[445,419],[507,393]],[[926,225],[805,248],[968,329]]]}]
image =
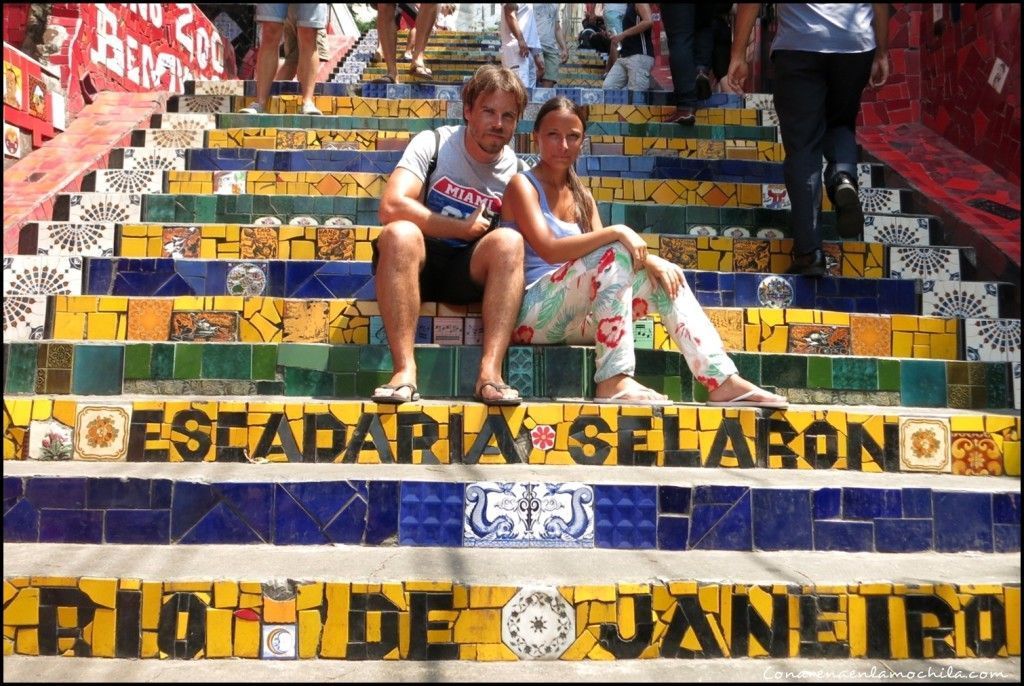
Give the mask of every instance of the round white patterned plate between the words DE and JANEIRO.
[{"label": "round white patterned plate between the words DE and JANEIRO", "polygon": [[520,659],[558,659],[573,640],[575,611],[555,588],[523,588],[502,608],[502,642]]}]

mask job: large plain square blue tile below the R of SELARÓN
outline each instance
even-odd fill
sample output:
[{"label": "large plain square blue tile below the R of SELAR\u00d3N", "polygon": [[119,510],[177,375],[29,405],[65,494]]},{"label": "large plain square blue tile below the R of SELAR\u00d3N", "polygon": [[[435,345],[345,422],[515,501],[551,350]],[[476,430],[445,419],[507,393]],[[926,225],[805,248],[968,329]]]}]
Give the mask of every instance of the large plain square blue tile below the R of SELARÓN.
[{"label": "large plain square blue tile below the R of SELAR\u00d3N", "polygon": [[811,498],[803,488],[752,491],[755,550],[812,550]]}]

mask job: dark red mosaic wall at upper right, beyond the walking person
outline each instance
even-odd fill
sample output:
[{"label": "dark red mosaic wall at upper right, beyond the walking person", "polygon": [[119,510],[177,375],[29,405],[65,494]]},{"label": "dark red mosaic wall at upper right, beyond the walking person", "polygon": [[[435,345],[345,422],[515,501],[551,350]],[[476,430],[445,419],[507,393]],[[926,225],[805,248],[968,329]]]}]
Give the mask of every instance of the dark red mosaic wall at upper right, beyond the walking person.
[{"label": "dark red mosaic wall at upper right, beyond the walking person", "polygon": [[[922,123],[951,143],[1020,182],[1021,8],[1007,3],[963,3],[958,20],[943,5],[921,12]],[[999,59],[1001,92],[989,84]]]}]

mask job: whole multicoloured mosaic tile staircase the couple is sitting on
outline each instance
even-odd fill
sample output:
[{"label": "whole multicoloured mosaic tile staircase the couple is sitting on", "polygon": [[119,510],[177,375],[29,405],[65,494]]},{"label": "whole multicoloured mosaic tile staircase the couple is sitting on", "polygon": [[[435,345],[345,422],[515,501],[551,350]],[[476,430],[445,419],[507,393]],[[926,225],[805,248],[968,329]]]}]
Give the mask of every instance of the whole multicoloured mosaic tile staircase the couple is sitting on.
[{"label": "whole multicoloured mosaic tile staircase the couple is sitting on", "polygon": [[[367,259],[407,138],[325,142],[458,120],[458,103],[321,84],[344,114],[316,126],[336,133],[295,132],[281,128],[313,123],[229,114],[251,84],[225,86],[172,98],[208,114],[155,118],[5,256],[5,655],[1019,658],[1019,319],[877,167],[861,169],[865,241],[829,244],[831,275],[781,276],[770,116],[722,100],[685,131],[612,95],[595,108],[607,126],[650,130],[592,140],[582,171],[605,220],[689,269],[744,376],[794,404],[686,404],[702,389],[641,319],[640,379],[683,404],[588,403],[592,348],[517,345],[508,379],[529,401],[488,411],[469,400],[478,310],[425,303],[430,400],[395,411],[360,398],[390,369]],[[644,134],[696,166],[630,179],[654,169],[630,166],[653,160],[630,157]],[[739,161],[725,145],[763,157],[716,164]],[[46,561],[67,544],[113,566]],[[369,566],[339,574],[329,551]],[[509,567],[536,575],[508,583]]]}]

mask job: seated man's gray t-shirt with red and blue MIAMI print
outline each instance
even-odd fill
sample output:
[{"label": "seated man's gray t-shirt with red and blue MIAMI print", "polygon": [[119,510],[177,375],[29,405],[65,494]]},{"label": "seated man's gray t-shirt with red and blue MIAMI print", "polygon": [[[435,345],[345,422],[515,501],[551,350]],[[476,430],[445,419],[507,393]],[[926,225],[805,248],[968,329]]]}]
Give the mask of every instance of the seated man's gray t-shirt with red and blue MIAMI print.
[{"label": "seated man's gray t-shirt with red and blue MIAMI print", "polygon": [[[508,145],[502,151],[498,162],[485,164],[475,161],[466,152],[466,127],[442,126],[437,166],[430,175],[426,206],[431,212],[449,217],[464,218],[485,205],[496,214],[502,211],[502,196],[505,186],[515,176],[518,161]],[[434,156],[433,131],[422,131],[416,135],[397,166],[416,174],[421,181],[426,180],[430,159]],[[455,246],[465,246],[466,241],[445,239]]]}]

